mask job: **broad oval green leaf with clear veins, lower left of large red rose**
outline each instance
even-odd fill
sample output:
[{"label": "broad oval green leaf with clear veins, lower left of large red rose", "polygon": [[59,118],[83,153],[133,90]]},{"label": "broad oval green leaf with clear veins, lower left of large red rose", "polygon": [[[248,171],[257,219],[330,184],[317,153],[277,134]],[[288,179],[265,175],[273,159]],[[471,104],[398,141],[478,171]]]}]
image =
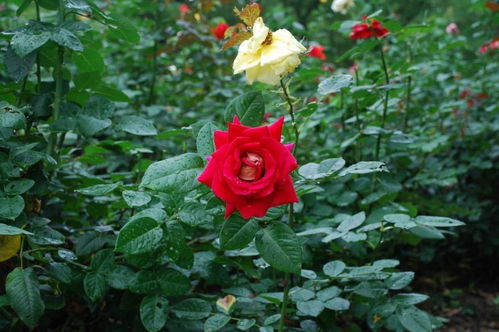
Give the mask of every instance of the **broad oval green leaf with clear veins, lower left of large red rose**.
[{"label": "broad oval green leaf with clear veins, lower left of large red rose", "polygon": [[163,230],[154,219],[134,219],[119,232],[115,250],[126,254],[152,251],[159,246],[162,236]]}]

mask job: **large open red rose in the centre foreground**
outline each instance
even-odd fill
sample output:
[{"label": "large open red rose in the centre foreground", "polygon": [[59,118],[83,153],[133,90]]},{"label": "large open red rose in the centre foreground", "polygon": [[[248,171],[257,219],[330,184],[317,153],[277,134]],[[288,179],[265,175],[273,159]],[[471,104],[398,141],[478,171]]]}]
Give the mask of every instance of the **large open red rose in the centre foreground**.
[{"label": "large open red rose in the centre foreground", "polygon": [[273,206],[298,202],[289,173],[298,165],[293,144],[281,143],[284,118],[269,126],[247,127],[234,117],[227,131],[215,131],[216,151],[198,180],[225,201],[225,218],[263,217]]}]

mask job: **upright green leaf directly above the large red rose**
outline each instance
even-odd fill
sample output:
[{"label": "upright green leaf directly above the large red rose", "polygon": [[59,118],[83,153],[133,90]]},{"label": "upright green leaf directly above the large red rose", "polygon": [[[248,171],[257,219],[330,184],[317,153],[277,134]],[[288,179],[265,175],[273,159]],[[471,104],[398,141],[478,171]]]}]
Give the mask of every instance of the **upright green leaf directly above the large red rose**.
[{"label": "upright green leaf directly above the large red rose", "polygon": [[265,102],[261,92],[248,92],[233,99],[225,109],[224,119],[232,122],[235,115],[243,125],[256,127],[261,125],[265,114]]}]

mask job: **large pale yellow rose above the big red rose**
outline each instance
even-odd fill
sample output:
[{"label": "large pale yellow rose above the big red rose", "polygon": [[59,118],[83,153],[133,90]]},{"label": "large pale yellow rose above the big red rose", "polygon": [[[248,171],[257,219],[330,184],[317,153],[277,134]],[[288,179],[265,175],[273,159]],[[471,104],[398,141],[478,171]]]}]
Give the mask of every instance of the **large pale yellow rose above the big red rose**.
[{"label": "large pale yellow rose above the big red rose", "polygon": [[232,68],[234,74],[246,72],[249,84],[254,81],[276,85],[300,64],[305,47],[286,29],[270,31],[261,17],[253,24],[253,36],[242,42]]}]

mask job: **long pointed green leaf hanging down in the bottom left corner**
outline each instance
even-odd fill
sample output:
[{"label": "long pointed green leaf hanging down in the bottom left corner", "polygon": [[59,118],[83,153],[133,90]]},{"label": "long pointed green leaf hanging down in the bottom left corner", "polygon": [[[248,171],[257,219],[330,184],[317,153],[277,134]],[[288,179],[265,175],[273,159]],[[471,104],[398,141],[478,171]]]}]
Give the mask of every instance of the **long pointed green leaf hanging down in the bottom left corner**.
[{"label": "long pointed green leaf hanging down in the bottom left corner", "polygon": [[30,329],[45,311],[38,287],[38,279],[31,268],[17,267],[7,275],[5,292],[10,306]]}]

